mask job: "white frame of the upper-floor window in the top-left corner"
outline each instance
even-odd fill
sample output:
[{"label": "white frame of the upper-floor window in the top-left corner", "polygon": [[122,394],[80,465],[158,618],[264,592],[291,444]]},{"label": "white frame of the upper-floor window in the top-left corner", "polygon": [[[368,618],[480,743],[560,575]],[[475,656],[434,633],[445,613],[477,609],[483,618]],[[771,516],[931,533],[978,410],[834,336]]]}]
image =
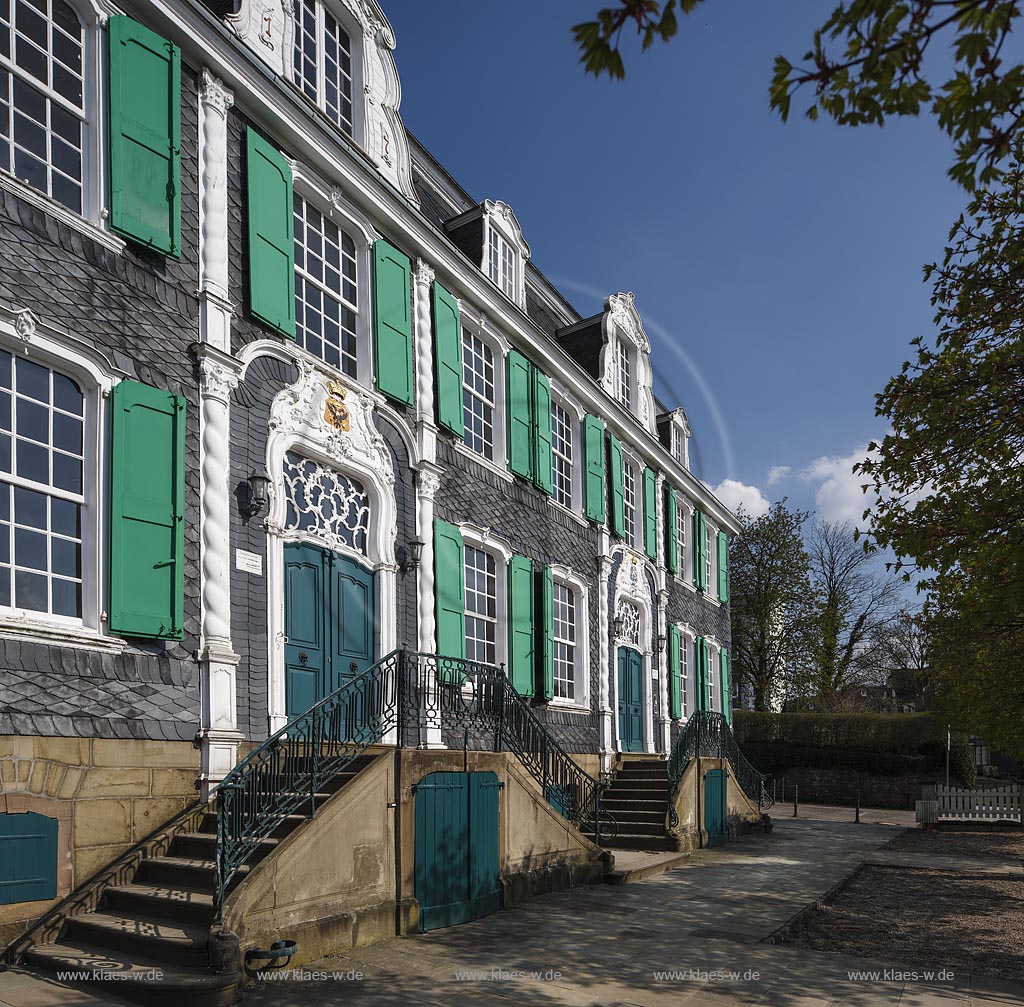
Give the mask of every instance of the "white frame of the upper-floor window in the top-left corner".
[{"label": "white frame of the upper-floor window in the top-left corner", "polygon": [[[106,59],[101,26],[109,11],[98,5],[80,0],[67,0],[78,14],[83,27],[82,36],[82,97],[84,121],[82,125],[82,211],[81,213],[58,203],[41,190],[17,178],[13,171],[0,170],[0,187],[17,194],[26,202],[76,230],[99,241],[113,251],[125,247],[122,238],[109,229],[103,207],[106,192]],[[11,8],[13,16],[13,6]],[[16,76],[13,60],[4,69]],[[47,89],[48,91],[48,89]],[[13,169],[13,165],[12,165]]]}]

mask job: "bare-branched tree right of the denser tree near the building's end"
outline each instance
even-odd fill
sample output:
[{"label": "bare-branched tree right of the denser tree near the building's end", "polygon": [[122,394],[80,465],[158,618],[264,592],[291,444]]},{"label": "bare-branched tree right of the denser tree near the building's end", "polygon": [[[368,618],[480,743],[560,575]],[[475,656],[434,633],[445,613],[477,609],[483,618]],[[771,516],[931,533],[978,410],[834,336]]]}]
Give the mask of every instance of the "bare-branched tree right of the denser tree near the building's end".
[{"label": "bare-branched tree right of the denser tree near the building's end", "polygon": [[863,550],[848,523],[815,521],[807,552],[812,612],[797,690],[830,709],[845,689],[867,682],[868,644],[892,619],[899,582]]}]

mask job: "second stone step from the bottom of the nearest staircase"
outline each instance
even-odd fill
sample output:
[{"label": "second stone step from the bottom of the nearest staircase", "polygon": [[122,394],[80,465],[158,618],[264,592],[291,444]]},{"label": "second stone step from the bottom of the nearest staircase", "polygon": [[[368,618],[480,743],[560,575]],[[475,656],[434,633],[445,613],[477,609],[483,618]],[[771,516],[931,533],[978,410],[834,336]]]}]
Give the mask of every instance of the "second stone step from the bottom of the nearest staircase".
[{"label": "second stone step from the bottom of the nearest staircase", "polygon": [[68,920],[68,936],[77,943],[141,956],[169,965],[203,968],[209,964],[210,926],[118,913],[86,913]]}]

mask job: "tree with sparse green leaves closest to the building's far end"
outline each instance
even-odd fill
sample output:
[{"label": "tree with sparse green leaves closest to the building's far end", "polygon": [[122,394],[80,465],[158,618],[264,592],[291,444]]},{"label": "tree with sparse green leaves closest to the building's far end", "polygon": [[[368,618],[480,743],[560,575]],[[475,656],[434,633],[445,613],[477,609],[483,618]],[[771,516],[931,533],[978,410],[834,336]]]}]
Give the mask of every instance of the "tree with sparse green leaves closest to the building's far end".
[{"label": "tree with sparse green leaves closest to the building's far end", "polygon": [[729,550],[732,674],[754,691],[757,710],[785,696],[785,678],[801,657],[810,591],[804,548],[805,511],[782,500],[767,514],[740,512],[743,529]]}]

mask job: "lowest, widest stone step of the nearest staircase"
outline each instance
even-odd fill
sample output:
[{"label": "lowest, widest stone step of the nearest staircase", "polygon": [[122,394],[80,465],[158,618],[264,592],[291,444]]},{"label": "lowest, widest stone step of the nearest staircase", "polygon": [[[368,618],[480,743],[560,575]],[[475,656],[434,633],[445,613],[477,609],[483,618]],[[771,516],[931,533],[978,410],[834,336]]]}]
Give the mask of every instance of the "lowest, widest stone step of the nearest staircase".
[{"label": "lowest, widest stone step of the nearest staircase", "polygon": [[132,1003],[151,1007],[181,1007],[183,1004],[187,1007],[228,1007],[234,1003],[240,979],[237,972],[216,975],[209,968],[175,968],[158,959],[123,955],[71,939],[32,948],[25,959],[27,964],[50,975],[88,973],[89,977],[71,984],[92,992],[102,991],[105,997],[116,994]]}]

